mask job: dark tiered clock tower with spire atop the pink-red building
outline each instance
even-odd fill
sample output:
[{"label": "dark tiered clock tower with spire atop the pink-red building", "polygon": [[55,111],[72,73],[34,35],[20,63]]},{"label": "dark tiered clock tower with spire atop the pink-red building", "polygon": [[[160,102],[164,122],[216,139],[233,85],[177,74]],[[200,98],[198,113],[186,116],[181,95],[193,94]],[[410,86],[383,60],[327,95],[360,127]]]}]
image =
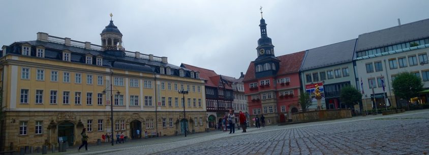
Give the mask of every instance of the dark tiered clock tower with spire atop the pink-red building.
[{"label": "dark tiered clock tower with spire atop the pink-red building", "polygon": [[272,45],[271,38],[267,35],[267,24],[262,17],[262,9],[259,28],[261,38],[259,38],[258,47],[256,47],[258,57],[254,61],[255,76],[256,78],[274,76],[279,70],[280,60],[274,56],[274,46]]}]

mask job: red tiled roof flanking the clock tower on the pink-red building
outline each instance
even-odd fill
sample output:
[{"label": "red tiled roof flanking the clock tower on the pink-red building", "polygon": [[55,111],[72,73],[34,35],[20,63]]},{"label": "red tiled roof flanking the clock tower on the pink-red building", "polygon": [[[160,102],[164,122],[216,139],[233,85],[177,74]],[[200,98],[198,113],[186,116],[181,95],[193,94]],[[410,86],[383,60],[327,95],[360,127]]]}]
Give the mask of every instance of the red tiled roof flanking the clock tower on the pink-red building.
[{"label": "red tiled roof flanking the clock tower on the pink-red building", "polygon": [[[302,60],[304,59],[305,51],[300,51],[296,53],[286,54],[278,56],[277,58],[280,60],[280,68],[277,75],[288,74],[299,72],[299,68],[301,67]],[[249,64],[246,75],[244,76],[243,81],[250,81],[256,79],[255,77],[255,65],[252,61]]]}]

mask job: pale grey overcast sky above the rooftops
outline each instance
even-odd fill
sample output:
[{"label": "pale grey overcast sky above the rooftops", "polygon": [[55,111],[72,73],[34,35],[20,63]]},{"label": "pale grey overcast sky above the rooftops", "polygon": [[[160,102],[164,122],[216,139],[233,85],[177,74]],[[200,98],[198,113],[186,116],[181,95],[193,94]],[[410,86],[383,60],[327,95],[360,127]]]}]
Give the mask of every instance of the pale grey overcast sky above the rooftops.
[{"label": "pale grey overcast sky above the rooftops", "polygon": [[0,1],[0,45],[37,32],[101,45],[110,16],[128,51],[238,78],[257,57],[262,6],[276,56],[429,18],[429,1]]}]

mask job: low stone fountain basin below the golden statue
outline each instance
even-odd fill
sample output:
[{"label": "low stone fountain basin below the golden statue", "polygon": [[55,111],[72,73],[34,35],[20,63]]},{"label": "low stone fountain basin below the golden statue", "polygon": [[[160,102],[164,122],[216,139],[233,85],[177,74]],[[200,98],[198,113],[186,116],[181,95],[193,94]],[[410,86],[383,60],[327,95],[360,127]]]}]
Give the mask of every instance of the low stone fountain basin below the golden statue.
[{"label": "low stone fountain basin below the golden statue", "polygon": [[341,110],[317,110],[292,114],[292,121],[317,121],[328,119],[350,118],[352,113],[350,109]]}]

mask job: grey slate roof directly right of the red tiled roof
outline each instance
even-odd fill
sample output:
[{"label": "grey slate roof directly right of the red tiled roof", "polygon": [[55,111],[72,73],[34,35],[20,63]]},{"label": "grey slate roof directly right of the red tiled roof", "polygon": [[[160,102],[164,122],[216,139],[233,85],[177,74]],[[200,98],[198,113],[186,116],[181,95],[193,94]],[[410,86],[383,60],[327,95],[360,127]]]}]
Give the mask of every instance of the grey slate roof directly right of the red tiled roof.
[{"label": "grey slate roof directly right of the red tiled roof", "polygon": [[309,49],[301,71],[344,64],[353,60],[356,39]]}]

